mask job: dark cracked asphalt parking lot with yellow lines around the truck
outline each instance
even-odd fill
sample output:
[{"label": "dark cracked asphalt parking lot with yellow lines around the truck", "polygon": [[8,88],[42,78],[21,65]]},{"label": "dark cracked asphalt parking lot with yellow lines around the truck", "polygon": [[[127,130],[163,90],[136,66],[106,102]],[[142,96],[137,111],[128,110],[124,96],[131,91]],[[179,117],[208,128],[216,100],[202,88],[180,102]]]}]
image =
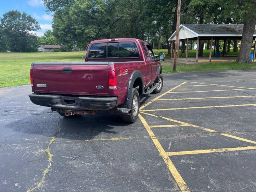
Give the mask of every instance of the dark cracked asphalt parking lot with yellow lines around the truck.
[{"label": "dark cracked asphalt parking lot with yellow lines around the truck", "polygon": [[63,118],[0,89],[0,191],[256,191],[256,70],[164,74],[140,118]]}]

